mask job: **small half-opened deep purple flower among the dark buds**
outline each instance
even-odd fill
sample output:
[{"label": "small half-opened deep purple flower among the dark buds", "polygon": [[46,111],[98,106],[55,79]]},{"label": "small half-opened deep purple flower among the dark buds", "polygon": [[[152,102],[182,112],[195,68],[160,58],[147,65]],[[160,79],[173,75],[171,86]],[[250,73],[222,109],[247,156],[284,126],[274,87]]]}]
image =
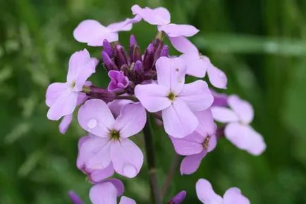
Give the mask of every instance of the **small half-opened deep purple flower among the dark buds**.
[{"label": "small half-opened deep purple flower among the dark buds", "polygon": [[109,78],[111,78],[111,82],[109,83],[109,87],[107,90],[109,91],[119,91],[124,90],[128,87],[128,77],[124,76],[122,71],[114,71],[111,70],[108,73]]}]

